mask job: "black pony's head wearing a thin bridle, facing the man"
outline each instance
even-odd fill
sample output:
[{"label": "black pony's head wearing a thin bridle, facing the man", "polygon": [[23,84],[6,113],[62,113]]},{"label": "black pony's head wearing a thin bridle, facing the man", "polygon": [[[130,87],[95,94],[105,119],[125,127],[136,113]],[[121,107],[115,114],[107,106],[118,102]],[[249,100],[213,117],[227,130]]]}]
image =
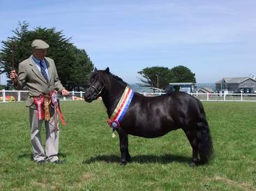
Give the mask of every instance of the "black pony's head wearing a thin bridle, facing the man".
[{"label": "black pony's head wearing a thin bridle, facing the man", "polygon": [[89,78],[89,88],[84,93],[84,100],[91,102],[101,96],[104,88],[106,88],[105,74],[110,74],[110,69],[105,70],[94,69]]}]

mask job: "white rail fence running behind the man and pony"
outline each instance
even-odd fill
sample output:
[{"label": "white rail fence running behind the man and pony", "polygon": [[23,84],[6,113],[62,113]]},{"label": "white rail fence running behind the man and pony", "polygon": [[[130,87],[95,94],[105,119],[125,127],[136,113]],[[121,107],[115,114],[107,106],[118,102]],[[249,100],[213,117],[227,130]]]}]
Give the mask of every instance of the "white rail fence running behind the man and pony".
[{"label": "white rail fence running behind the man and pony", "polygon": [[[147,97],[155,97],[162,92],[141,92]],[[194,97],[201,101],[256,101],[256,94],[218,94],[218,93],[191,93]],[[9,101],[26,101],[29,97],[28,91],[16,91],[16,90],[0,90],[0,103]],[[82,100],[84,99],[84,92],[70,92],[70,96],[62,97],[61,100]]]}]

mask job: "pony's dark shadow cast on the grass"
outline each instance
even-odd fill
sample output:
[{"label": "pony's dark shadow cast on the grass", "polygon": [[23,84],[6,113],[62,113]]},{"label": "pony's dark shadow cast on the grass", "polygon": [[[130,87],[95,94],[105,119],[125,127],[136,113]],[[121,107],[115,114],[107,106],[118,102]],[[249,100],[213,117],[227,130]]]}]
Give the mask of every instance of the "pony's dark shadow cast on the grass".
[{"label": "pony's dark shadow cast on the grass", "polygon": [[[131,157],[130,163],[190,163],[191,158],[186,156],[175,156],[171,154],[165,154],[163,156],[154,156],[154,155],[138,155]],[[98,161],[105,161],[106,163],[120,163],[120,156],[114,155],[103,155],[103,156],[96,156],[90,158],[89,160],[84,160],[83,164],[95,163]]]}]

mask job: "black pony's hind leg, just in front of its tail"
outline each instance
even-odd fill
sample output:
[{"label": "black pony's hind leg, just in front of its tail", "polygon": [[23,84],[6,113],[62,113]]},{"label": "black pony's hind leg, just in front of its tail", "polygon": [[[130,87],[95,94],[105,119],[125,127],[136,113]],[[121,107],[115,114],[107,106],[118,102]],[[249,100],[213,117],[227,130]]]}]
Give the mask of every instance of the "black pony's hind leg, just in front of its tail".
[{"label": "black pony's hind leg, just in front of its tail", "polygon": [[197,144],[197,135],[195,133],[195,130],[189,129],[189,130],[183,130],[186,133],[186,136],[190,142],[190,145],[193,149],[192,151],[192,161],[190,163],[190,167],[195,167],[199,164],[199,158],[198,158],[198,144]]}]

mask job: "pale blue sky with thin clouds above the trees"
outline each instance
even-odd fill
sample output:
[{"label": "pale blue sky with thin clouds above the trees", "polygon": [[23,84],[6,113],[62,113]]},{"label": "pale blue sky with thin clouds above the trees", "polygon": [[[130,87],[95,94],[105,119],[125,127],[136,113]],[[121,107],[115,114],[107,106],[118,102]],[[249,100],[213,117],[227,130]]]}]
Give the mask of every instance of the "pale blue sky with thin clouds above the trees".
[{"label": "pale blue sky with thin clouds above the trees", "polygon": [[1,0],[0,7],[1,41],[19,21],[30,30],[54,27],[97,69],[110,67],[127,83],[155,66],[188,67],[197,83],[256,75],[255,0]]}]

